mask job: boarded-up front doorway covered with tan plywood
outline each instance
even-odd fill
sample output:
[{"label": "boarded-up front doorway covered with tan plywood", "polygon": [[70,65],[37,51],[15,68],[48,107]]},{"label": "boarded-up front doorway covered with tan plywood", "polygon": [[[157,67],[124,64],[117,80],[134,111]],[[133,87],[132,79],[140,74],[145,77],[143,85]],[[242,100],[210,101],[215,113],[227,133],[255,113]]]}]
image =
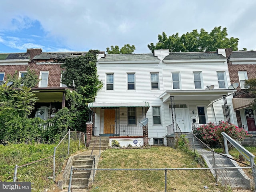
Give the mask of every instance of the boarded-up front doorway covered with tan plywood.
[{"label": "boarded-up front doorway covered with tan plywood", "polygon": [[116,110],[104,110],[104,134],[114,134],[116,124]]}]

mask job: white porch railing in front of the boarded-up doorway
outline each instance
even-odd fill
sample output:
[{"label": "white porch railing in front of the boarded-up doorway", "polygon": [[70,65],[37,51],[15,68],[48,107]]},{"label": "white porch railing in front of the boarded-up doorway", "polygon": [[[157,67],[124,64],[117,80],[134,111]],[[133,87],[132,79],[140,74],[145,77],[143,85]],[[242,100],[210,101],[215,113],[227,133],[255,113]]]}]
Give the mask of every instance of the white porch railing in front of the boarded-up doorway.
[{"label": "white porch railing in front of the boarded-up doorway", "polygon": [[143,128],[139,125],[110,125],[110,134],[114,136],[143,136]]}]

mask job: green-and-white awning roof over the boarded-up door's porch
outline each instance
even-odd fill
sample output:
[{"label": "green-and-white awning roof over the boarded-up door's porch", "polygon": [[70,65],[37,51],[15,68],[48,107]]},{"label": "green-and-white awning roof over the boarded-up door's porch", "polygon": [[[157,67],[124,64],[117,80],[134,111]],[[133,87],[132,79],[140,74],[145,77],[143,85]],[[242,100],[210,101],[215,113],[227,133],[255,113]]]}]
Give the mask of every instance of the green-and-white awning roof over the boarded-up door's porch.
[{"label": "green-and-white awning roof over the boarded-up door's porch", "polygon": [[106,102],[94,102],[94,103],[88,103],[88,107],[149,107],[149,102],[143,101],[143,102],[116,102],[116,103],[106,103]]}]

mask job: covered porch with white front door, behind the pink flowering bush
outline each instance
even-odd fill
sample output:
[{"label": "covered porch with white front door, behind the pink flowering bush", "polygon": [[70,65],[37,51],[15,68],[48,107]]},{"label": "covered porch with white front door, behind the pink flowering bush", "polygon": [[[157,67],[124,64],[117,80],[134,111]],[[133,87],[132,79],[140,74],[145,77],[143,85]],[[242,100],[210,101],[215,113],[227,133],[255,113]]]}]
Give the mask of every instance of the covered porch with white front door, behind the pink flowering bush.
[{"label": "covered porch with white front door, behind the pink flowering bush", "polygon": [[[167,135],[190,133],[193,126],[232,122],[231,95],[236,90],[169,90],[160,98],[169,106]],[[228,98],[228,99],[227,99]],[[236,122],[236,121],[235,121]]]}]

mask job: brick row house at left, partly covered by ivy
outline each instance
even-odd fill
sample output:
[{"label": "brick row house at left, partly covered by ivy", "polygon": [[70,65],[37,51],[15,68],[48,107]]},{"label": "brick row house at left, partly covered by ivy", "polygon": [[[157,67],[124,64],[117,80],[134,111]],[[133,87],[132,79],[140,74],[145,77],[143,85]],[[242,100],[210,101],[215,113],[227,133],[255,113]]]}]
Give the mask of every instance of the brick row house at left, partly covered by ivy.
[{"label": "brick row house at left, partly covered by ivy", "polygon": [[0,54],[0,84],[6,82],[7,74],[13,76],[17,71],[22,78],[28,68],[34,70],[40,81],[32,90],[38,91],[36,96],[39,100],[31,116],[47,120],[65,106],[64,92],[70,89],[61,83],[63,69],[60,60],[84,54],[86,52],[42,52],[42,49]]}]

